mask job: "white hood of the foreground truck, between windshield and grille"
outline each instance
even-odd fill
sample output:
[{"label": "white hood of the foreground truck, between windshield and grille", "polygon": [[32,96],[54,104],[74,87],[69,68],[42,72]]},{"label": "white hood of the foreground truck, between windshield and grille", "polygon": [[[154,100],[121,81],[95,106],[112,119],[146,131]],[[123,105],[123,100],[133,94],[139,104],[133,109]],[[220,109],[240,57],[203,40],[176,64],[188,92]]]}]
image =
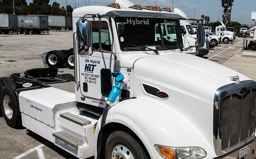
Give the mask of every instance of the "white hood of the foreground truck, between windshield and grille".
[{"label": "white hood of the foreground truck, between windshield and grille", "polygon": [[[173,122],[186,123],[205,143],[213,145],[215,91],[224,85],[234,83],[229,76],[235,75],[239,75],[241,81],[250,80],[227,67],[193,55],[145,57],[134,63],[134,96],[137,99],[156,103],[159,110],[166,112],[164,114],[175,114],[182,121],[169,121],[170,125]],[[145,85],[153,87],[149,91],[157,88],[167,93],[169,97],[161,99],[153,96],[145,92]],[[147,89],[150,88],[148,86]],[[165,119],[168,120],[168,116]],[[186,141],[180,143],[187,144]]]}]

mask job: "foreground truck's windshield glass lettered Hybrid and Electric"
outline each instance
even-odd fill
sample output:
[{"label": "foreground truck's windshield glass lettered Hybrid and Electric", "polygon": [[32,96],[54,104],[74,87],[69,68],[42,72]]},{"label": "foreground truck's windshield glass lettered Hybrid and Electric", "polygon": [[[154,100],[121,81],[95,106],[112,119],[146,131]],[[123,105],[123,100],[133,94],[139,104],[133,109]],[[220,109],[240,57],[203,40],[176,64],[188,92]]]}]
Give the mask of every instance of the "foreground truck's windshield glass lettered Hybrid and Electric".
[{"label": "foreground truck's windshield glass lettered Hybrid and Electric", "polygon": [[122,51],[183,48],[177,19],[117,17],[115,22]]}]

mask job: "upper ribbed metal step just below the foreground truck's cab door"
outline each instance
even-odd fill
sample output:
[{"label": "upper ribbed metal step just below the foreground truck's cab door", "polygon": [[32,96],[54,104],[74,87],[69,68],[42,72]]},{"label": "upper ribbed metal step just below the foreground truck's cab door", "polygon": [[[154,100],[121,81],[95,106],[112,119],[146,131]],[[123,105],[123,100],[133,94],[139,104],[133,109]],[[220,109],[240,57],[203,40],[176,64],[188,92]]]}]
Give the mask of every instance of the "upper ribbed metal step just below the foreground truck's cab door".
[{"label": "upper ribbed metal step just below the foreground truck's cab door", "polygon": [[61,113],[60,117],[66,119],[66,120],[69,120],[69,121],[71,121],[71,122],[73,122],[75,124],[81,125],[81,126],[85,126],[85,125],[90,125],[91,124],[91,121],[83,119],[80,116],[76,116],[76,115],[74,115],[74,114],[72,114],[70,112]]}]

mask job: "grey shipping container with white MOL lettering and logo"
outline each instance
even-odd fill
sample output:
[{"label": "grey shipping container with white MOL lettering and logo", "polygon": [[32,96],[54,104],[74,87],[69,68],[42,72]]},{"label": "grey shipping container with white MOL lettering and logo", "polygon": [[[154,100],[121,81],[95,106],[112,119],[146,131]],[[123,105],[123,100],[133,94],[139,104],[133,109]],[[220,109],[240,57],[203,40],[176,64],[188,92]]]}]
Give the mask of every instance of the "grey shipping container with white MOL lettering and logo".
[{"label": "grey shipping container with white MOL lettering and logo", "polygon": [[18,15],[19,28],[40,28],[40,19],[37,15]]}]

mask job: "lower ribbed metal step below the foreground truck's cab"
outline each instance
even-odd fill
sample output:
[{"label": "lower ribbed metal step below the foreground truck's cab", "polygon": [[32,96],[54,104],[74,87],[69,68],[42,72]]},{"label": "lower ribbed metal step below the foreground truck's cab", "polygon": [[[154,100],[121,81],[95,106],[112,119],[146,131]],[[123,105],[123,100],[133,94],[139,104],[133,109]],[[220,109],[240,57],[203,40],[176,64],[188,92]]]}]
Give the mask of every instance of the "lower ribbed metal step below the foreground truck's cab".
[{"label": "lower ribbed metal step below the foreground truck's cab", "polygon": [[60,139],[61,141],[65,142],[65,143],[73,146],[73,147],[79,147],[84,144],[83,141],[80,141],[80,140],[76,139],[75,137],[72,137],[62,131],[54,132],[53,136]]}]

